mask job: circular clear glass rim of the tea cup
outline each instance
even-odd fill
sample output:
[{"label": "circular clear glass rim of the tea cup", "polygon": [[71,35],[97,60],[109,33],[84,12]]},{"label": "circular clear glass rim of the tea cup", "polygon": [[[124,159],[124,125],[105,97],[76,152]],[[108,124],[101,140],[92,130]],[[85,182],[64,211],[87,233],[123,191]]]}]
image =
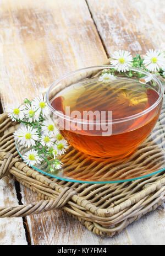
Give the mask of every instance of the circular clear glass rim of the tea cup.
[{"label": "circular clear glass rim of the tea cup", "polygon": [[57,116],[59,116],[60,118],[65,119],[65,120],[72,121],[72,122],[74,121],[74,122],[81,123],[81,124],[103,124],[103,125],[105,124],[105,125],[108,125],[108,124],[117,124],[119,122],[124,122],[124,121],[129,121],[129,120],[132,120],[132,119],[139,118],[140,116],[145,115],[145,114],[149,113],[151,110],[153,110],[154,108],[156,108],[156,106],[161,102],[161,100],[163,98],[163,94],[164,94],[164,86],[163,86],[162,82],[160,81],[160,79],[157,78],[155,74],[152,74],[152,73],[149,73],[147,71],[141,70],[140,68],[135,68],[135,67],[131,66],[131,67],[128,67],[128,71],[132,70],[132,71],[144,73],[147,76],[152,77],[153,81],[156,81],[157,84],[159,85],[159,87],[161,88],[160,95],[159,95],[158,99],[149,108],[147,108],[147,109],[145,109],[145,110],[143,110],[143,111],[141,111],[137,114],[127,116],[125,118],[113,119],[111,121],[107,120],[106,122],[101,122],[101,121],[92,121],[91,122],[91,121],[88,121],[88,120],[72,118],[70,116],[64,115],[60,111],[58,111],[58,110],[56,110],[52,107],[52,105],[50,103],[50,100],[49,100],[50,90],[53,87],[57,86],[57,84],[60,83],[63,79],[65,79],[67,77],[70,77],[73,74],[76,74],[76,73],[79,73],[79,72],[97,70],[97,69],[103,69],[103,68],[114,68],[114,66],[113,65],[100,65],[100,66],[90,66],[90,67],[80,68],[78,70],[68,72],[64,76],[62,76],[62,77],[58,78],[56,81],[54,81],[51,84],[51,86],[48,87],[48,90],[46,92],[46,103],[47,103],[48,107],[51,109],[52,113],[56,114]]}]

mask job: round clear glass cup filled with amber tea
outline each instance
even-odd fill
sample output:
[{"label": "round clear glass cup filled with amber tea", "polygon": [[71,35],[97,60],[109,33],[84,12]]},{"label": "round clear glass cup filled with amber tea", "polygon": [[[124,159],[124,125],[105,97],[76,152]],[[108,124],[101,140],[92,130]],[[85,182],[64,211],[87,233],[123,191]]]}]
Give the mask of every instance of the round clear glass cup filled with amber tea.
[{"label": "round clear glass cup filled with amber tea", "polygon": [[129,156],[160,115],[164,86],[149,72],[114,66],[82,68],[57,79],[46,93],[52,119],[77,150],[98,160]]}]

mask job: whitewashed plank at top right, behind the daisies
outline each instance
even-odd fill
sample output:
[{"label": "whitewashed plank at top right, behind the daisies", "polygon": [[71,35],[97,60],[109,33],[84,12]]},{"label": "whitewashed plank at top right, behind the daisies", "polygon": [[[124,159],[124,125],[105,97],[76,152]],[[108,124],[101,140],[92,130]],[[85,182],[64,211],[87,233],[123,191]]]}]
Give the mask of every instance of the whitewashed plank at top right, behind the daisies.
[{"label": "whitewashed plank at top right, behind the daisies", "polygon": [[87,0],[109,56],[116,50],[165,50],[165,1]]}]

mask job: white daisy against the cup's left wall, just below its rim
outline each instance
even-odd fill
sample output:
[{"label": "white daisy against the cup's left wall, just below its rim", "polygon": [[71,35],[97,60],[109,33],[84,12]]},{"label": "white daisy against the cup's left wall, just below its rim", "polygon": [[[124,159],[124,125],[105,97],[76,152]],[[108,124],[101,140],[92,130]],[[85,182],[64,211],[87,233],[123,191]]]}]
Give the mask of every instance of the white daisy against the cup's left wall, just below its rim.
[{"label": "white daisy against the cup's left wall, just below its rim", "polygon": [[44,135],[48,135],[51,137],[59,134],[56,124],[53,122],[51,118],[48,118],[42,122],[41,130],[43,131]]}]

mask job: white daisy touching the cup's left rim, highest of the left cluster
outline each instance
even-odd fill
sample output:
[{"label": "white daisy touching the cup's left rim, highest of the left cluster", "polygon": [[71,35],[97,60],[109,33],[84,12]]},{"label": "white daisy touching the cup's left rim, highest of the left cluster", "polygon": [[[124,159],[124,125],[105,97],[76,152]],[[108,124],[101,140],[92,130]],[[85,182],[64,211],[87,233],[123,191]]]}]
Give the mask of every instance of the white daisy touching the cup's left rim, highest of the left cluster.
[{"label": "white daisy touching the cup's left rim, highest of the left cluster", "polygon": [[48,116],[50,114],[50,109],[48,108],[46,103],[46,94],[44,97],[42,94],[38,95],[34,100],[32,100],[31,106],[32,108],[37,110],[37,116],[40,115],[41,111],[43,116]]}]

